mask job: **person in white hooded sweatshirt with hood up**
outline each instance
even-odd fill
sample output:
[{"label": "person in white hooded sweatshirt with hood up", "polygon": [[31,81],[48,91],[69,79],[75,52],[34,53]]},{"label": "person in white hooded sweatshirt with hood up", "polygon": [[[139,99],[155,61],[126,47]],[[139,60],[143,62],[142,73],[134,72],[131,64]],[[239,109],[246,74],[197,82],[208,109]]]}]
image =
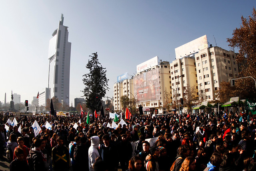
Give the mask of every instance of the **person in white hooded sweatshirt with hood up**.
[{"label": "person in white hooded sweatshirt with hood up", "polygon": [[98,152],[100,138],[98,136],[91,137],[91,146],[88,150],[88,158],[89,158],[89,171],[94,171],[93,164],[96,161],[97,157],[100,157]]}]

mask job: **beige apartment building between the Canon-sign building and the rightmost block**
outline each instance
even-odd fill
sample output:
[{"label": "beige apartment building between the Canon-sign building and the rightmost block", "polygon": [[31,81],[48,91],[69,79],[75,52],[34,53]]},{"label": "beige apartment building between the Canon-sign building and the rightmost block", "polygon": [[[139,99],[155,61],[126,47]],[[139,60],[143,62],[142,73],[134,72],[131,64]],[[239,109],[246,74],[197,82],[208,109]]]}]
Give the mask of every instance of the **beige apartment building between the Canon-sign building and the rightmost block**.
[{"label": "beige apartment building between the Canon-sign building and the rightmost block", "polygon": [[[196,73],[196,62],[193,54],[184,58],[176,59],[170,64],[172,101],[173,108],[178,108],[178,102],[185,98],[186,89],[194,87],[198,97],[198,78]],[[186,109],[187,110],[187,109]]]}]

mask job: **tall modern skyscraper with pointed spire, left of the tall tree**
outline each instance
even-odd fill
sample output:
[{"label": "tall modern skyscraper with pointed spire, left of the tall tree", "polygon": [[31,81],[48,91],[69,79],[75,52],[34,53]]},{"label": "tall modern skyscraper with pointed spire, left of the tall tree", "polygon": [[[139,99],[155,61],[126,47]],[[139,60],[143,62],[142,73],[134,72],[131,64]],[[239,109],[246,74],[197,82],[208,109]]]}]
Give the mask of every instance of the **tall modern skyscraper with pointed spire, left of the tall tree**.
[{"label": "tall modern skyscraper with pointed spire, left of the tall tree", "polygon": [[63,21],[61,14],[58,28],[52,33],[49,43],[48,88],[50,98],[56,97],[62,104],[69,105],[71,43],[68,42],[68,27],[63,26]]}]

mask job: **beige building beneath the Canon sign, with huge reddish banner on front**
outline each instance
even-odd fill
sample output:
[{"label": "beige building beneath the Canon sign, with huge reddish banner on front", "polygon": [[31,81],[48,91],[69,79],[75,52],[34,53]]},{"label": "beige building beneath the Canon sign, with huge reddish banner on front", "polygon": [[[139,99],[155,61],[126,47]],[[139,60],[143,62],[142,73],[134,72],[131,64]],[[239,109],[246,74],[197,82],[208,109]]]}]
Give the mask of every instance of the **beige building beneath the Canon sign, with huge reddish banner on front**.
[{"label": "beige building beneath the Canon sign, with huge reddish banner on front", "polygon": [[[166,90],[170,96],[168,103],[172,103],[172,87],[170,85],[171,76],[169,62],[160,61],[157,65],[151,66],[151,68],[137,72],[134,76],[134,93],[138,93],[136,97],[138,100],[136,108],[141,105],[144,114],[168,113],[164,108],[164,91]],[[172,110],[172,108],[169,110]]]}]

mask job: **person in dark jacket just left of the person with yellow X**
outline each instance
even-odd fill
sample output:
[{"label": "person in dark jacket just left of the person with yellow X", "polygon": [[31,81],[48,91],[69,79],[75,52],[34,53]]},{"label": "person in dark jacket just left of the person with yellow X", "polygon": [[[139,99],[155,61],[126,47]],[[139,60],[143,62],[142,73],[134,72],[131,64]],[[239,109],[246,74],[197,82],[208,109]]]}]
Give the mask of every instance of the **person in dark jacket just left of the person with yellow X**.
[{"label": "person in dark jacket just left of the person with yellow X", "polygon": [[34,140],[34,147],[30,150],[29,155],[27,157],[29,171],[47,171],[46,168],[46,158],[44,158],[44,154],[41,151],[42,140],[36,138]]}]

